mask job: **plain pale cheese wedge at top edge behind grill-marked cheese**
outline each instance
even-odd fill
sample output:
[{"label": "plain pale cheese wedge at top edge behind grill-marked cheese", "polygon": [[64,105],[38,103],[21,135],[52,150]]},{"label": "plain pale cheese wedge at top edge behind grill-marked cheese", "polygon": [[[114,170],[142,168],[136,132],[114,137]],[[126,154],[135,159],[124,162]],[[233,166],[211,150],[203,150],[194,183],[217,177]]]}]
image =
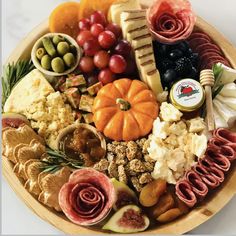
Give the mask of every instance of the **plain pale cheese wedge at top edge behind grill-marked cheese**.
[{"label": "plain pale cheese wedge at top edge behind grill-marked cheese", "polygon": [[141,9],[139,0],[122,0],[117,3],[113,3],[109,10],[109,16],[112,22],[121,25],[121,13],[128,10],[139,10]]}]

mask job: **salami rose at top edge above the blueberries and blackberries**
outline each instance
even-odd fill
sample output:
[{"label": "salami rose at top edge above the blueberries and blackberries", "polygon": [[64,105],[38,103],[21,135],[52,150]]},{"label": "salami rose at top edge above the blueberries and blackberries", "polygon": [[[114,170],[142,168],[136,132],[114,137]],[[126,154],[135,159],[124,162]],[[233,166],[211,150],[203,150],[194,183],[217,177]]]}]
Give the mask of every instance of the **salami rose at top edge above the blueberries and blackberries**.
[{"label": "salami rose at top edge above the blueberries and blackberries", "polygon": [[157,41],[173,44],[190,36],[196,16],[188,0],[156,0],[147,11],[147,21]]}]

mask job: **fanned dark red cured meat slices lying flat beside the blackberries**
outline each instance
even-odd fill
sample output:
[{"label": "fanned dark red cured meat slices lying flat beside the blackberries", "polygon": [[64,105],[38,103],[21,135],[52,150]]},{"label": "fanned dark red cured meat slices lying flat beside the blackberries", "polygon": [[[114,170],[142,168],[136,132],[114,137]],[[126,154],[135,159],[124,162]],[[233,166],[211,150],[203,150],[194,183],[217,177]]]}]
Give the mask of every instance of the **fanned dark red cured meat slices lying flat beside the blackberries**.
[{"label": "fanned dark red cured meat slices lying flat beside the blackberries", "polygon": [[221,49],[204,32],[193,32],[188,38],[190,48],[199,54],[199,69],[211,69],[218,62],[229,66],[229,61],[225,58]]}]

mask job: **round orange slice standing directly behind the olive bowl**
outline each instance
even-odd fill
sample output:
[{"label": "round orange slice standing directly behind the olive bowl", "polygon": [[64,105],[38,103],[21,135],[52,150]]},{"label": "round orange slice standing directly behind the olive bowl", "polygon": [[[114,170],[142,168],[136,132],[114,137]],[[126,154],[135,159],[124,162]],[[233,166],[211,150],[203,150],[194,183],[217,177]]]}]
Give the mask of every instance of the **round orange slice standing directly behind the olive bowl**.
[{"label": "round orange slice standing directly behind the olive bowl", "polygon": [[65,2],[57,6],[49,17],[50,32],[76,38],[79,33],[79,6],[78,2]]}]

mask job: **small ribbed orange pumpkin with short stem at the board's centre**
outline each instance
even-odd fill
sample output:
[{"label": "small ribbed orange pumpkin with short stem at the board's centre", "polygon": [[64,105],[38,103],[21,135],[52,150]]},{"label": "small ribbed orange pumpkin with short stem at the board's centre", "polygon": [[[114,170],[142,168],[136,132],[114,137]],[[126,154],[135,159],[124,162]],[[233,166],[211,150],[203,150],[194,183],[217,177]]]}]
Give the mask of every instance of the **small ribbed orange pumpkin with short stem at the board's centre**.
[{"label": "small ribbed orange pumpkin with short stem at the board's centre", "polygon": [[126,78],[105,85],[93,105],[96,128],[116,141],[136,140],[150,133],[158,112],[155,95],[147,85]]}]

